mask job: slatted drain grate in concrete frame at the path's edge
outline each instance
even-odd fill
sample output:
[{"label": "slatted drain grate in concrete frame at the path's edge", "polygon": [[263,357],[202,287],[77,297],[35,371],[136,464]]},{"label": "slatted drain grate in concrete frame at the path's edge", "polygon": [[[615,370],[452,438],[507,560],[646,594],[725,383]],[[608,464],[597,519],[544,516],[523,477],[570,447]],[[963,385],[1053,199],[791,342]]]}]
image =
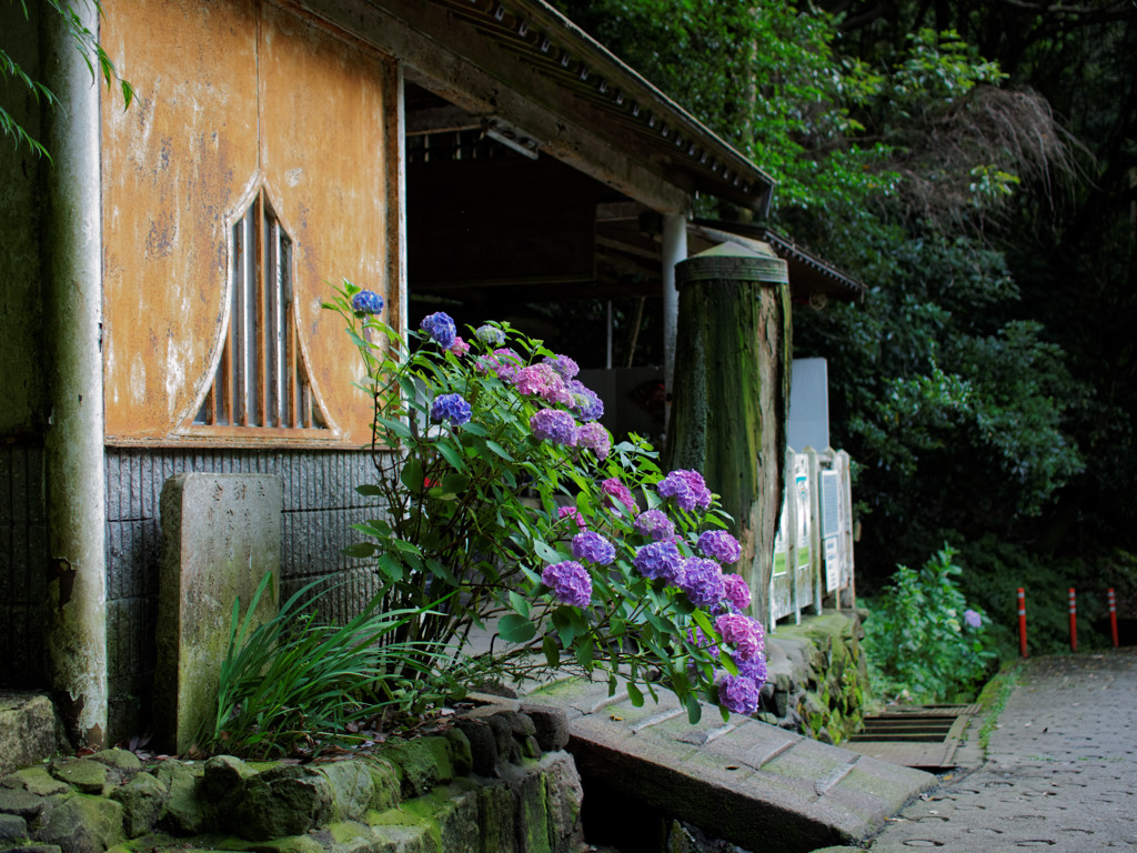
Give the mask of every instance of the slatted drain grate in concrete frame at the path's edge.
[{"label": "slatted drain grate in concrete frame at the path's edge", "polygon": [[971,705],[914,705],[872,714],[841,744],[846,750],[894,764],[937,772],[954,767],[953,757],[971,717]]}]

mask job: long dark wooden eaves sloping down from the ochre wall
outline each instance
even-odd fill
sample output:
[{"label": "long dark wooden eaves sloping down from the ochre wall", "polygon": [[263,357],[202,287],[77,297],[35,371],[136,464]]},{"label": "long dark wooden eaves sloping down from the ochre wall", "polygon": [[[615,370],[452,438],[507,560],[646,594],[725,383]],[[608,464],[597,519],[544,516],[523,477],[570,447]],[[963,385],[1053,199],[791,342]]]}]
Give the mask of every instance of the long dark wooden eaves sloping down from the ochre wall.
[{"label": "long dark wooden eaves sloping down from the ochre wall", "polygon": [[769,209],[766,173],[541,0],[296,2],[457,108],[408,113],[409,134],[497,122],[658,213],[696,193]]}]

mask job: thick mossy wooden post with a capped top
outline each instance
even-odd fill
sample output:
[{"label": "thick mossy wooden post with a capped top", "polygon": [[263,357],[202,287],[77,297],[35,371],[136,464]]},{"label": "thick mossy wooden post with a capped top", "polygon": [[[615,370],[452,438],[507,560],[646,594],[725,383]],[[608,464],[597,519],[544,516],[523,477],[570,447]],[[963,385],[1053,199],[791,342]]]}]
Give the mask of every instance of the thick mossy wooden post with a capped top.
[{"label": "thick mossy wooden post with a capped top", "polygon": [[694,469],[722,496],[742,546],[753,613],[767,612],[789,420],[786,262],[724,243],[675,267],[679,326],[667,470]]}]

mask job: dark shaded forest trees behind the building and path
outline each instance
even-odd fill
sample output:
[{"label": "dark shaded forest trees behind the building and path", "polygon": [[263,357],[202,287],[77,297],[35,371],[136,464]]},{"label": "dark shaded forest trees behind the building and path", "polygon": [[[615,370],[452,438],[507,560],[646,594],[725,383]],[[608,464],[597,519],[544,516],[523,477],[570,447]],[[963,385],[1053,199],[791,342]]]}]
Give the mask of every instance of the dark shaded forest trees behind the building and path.
[{"label": "dark shaded forest trees behind the building and path", "polygon": [[1137,613],[1137,6],[559,5],[868,287],[794,331],[856,462],[862,590],[948,543],[996,623],[1030,589],[1052,646],[1067,587]]}]

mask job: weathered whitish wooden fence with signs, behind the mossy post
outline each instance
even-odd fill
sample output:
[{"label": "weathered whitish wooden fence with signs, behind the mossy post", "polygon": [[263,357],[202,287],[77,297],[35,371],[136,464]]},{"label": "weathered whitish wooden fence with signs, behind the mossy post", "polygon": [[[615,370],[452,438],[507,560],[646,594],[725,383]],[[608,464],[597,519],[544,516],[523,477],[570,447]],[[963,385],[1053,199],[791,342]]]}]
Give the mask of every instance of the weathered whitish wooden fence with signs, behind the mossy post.
[{"label": "weathered whitish wooden fence with signs, behind the mossy post", "polygon": [[802,612],[820,613],[832,597],[838,608],[855,601],[853,502],[845,450],[786,453],[786,491],[774,538],[766,626]]}]

